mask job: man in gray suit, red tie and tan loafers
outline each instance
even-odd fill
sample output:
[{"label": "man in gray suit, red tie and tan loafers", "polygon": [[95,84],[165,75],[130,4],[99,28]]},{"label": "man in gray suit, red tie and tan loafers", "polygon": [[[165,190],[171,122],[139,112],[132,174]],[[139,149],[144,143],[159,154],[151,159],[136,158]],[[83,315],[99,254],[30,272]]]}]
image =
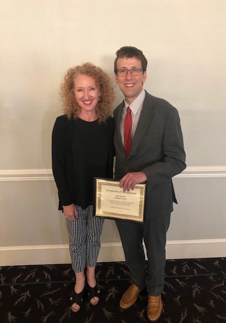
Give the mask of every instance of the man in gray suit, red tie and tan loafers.
[{"label": "man in gray suit, red tie and tan loafers", "polygon": [[[186,168],[183,136],[176,108],[143,90],[147,68],[143,52],[125,46],[116,55],[115,79],[125,99],[114,111],[115,178],[124,191],[147,183],[145,223],[116,221],[132,277],[120,307],[132,306],[146,285],[147,315],[155,322],[162,312],[166,232],[173,202],[177,203],[172,177]],[[148,258],[147,283],[143,240]]]}]

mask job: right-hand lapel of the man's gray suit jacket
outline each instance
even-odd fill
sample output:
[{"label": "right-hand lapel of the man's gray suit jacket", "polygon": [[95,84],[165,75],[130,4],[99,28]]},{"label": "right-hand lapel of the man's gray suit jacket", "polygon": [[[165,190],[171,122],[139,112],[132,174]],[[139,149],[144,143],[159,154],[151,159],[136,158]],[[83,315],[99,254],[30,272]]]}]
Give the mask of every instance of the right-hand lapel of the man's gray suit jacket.
[{"label": "right-hand lapel of the man's gray suit jacket", "polygon": [[137,125],[136,132],[133,137],[133,145],[132,145],[132,151],[131,154],[133,154],[133,151],[137,149],[139,146],[147,128],[149,127],[149,124],[151,122],[151,119],[153,117],[154,111],[153,111],[154,102],[151,98],[151,95],[146,92],[144,103],[143,103],[143,109],[141,111],[140,119]]}]

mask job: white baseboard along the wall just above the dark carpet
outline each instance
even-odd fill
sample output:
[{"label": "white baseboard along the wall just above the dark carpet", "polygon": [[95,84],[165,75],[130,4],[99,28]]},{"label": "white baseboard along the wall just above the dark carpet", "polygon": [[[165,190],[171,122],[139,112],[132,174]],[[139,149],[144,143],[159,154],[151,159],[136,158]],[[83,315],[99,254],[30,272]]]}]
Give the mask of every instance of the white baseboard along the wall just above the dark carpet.
[{"label": "white baseboard along the wall just above the dark carpet", "polygon": [[[166,259],[226,256],[226,239],[167,241]],[[98,262],[125,261],[122,244],[102,243]],[[0,265],[70,263],[68,245],[15,246],[0,248]]]}]

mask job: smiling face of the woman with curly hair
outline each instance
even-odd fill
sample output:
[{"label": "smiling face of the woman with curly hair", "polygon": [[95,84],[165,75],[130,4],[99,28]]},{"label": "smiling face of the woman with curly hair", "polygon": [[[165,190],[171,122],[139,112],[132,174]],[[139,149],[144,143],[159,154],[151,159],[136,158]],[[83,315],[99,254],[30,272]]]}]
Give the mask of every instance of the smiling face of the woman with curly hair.
[{"label": "smiling face of the woman with curly hair", "polygon": [[82,112],[89,114],[95,112],[100,91],[94,78],[84,74],[78,75],[74,81],[74,91]]}]

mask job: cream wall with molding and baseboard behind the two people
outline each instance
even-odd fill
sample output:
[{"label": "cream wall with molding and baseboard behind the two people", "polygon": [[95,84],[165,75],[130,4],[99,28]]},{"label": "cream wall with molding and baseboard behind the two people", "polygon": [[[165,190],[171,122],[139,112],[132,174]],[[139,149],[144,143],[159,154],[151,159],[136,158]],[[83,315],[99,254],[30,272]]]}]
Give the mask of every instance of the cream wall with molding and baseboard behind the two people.
[{"label": "cream wall with molding and baseboard behind the two people", "polygon": [[[114,79],[124,45],[143,50],[145,89],[181,117],[188,168],[167,257],[225,256],[226,2],[2,0],[0,15],[0,265],[70,261],[50,158],[60,84],[87,61]],[[113,221],[101,241],[100,261],[123,259]]]}]

